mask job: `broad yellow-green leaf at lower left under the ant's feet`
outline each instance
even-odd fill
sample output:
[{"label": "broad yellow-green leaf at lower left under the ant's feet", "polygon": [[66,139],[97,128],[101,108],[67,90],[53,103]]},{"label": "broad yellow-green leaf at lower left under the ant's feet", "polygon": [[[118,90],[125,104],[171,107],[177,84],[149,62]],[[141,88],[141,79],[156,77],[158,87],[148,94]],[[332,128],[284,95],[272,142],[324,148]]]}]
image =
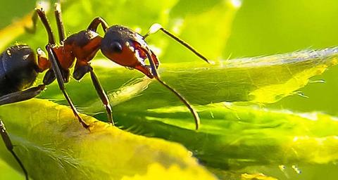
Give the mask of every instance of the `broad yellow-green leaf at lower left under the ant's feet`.
[{"label": "broad yellow-green leaf at lower left under the ant's feet", "polygon": [[[33,99],[4,105],[1,119],[15,152],[33,179],[215,179],[177,143],[150,139],[82,116],[70,108]],[[20,170],[4,144],[1,158]]]}]

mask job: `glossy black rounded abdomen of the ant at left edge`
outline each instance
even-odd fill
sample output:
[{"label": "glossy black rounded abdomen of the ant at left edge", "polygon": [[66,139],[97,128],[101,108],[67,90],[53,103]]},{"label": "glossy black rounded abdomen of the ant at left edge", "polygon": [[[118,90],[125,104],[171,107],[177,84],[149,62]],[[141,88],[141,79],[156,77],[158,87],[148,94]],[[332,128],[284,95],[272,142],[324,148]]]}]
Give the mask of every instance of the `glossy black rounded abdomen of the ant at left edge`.
[{"label": "glossy black rounded abdomen of the ant at left edge", "polygon": [[37,61],[29,46],[11,46],[1,53],[0,96],[32,86],[36,78]]}]

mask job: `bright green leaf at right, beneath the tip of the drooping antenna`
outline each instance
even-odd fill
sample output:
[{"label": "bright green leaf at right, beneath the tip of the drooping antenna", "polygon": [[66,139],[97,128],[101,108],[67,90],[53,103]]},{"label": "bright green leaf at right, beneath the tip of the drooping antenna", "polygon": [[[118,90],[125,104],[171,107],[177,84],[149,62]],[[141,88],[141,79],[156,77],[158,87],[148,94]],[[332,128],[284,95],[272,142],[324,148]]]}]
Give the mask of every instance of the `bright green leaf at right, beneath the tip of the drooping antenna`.
[{"label": "bright green leaf at right, beneath the tip of the drooping antenna", "polygon": [[115,119],[133,133],[182,143],[204,165],[218,169],[325,165],[338,160],[337,117],[231,103],[202,106],[199,112],[199,131],[193,130],[194,122],[183,107],[116,112]]}]

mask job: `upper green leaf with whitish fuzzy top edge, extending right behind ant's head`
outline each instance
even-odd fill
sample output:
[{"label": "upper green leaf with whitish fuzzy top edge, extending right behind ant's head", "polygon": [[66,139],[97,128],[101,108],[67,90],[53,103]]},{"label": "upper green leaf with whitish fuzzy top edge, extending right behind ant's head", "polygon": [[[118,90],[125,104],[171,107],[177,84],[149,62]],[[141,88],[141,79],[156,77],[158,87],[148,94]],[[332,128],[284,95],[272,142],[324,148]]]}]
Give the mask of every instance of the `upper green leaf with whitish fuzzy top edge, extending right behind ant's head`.
[{"label": "upper green leaf with whitish fuzzy top edge, extending right behind ant's head", "polygon": [[[336,65],[337,55],[337,48],[332,48],[223,60],[215,65],[203,62],[166,63],[161,65],[159,71],[165,82],[193,104],[205,105],[224,101],[275,103],[285,96],[296,94],[298,89],[308,84],[311,77]],[[159,83],[151,82],[147,78],[131,80],[142,77],[137,71],[118,68],[99,59],[93,65],[104,89],[110,91],[108,96],[112,105],[118,110],[142,111],[180,104]],[[131,82],[125,84],[128,81]],[[89,86],[92,85],[88,76],[81,83],[67,84],[70,94],[74,94],[75,104],[85,107],[84,111],[87,113],[99,113],[103,107],[94,89],[82,91],[83,87]],[[41,97],[63,99],[55,83],[48,86],[48,90]]]}]

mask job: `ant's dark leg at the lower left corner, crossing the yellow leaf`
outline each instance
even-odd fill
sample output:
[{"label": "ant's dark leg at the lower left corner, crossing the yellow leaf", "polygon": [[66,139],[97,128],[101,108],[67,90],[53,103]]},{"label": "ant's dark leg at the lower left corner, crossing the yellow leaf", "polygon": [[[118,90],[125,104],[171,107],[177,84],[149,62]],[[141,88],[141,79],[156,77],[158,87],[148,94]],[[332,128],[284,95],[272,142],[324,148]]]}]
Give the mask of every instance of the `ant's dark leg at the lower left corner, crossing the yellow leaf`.
[{"label": "ant's dark leg at the lower left corner, crossing the yellow leaf", "polygon": [[11,139],[9,138],[7,132],[6,132],[5,124],[4,124],[4,122],[2,122],[2,120],[0,120],[0,134],[1,134],[2,140],[4,141],[4,143],[6,145],[7,150],[9,152],[11,152],[11,154],[15,158],[16,162],[18,162],[21,169],[23,169],[23,173],[25,174],[25,179],[28,180],[27,170],[25,169],[25,166],[23,166],[23,162],[21,162],[18,155],[15,154],[15,152],[13,150],[13,143],[12,143]]}]

